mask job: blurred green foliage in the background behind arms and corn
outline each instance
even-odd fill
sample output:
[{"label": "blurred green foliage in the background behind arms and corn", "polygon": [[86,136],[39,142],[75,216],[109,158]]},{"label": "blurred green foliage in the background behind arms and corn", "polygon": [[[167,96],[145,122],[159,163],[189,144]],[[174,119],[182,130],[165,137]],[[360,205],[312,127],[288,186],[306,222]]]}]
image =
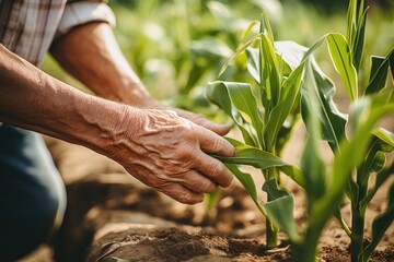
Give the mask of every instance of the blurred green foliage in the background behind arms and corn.
[{"label": "blurred green foliage in the background behind arms and corn", "polygon": [[[123,52],[151,94],[177,107],[212,114],[204,98],[209,81],[240,43],[257,32],[250,27],[265,10],[276,40],[294,40],[310,47],[328,32],[345,34],[344,0],[109,0],[114,28]],[[366,50],[385,56],[394,45],[394,1],[370,0]],[[328,61],[326,52],[317,61]],[[323,59],[324,58],[324,59]],[[227,80],[247,81],[246,58],[237,58]],[[363,61],[364,66],[370,61]],[[334,69],[321,67],[332,78]],[[367,67],[366,67],[367,68]],[[84,88],[47,56],[42,69]]]}]

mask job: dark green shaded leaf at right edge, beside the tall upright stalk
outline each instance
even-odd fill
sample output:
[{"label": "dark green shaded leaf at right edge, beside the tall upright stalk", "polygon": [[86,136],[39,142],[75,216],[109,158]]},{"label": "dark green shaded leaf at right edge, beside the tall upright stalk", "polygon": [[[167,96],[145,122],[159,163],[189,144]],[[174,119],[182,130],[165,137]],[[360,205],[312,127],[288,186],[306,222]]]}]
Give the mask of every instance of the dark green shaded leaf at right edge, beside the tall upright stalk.
[{"label": "dark green shaded leaf at right edge, beside the tall upright stalk", "polygon": [[394,48],[385,58],[375,56],[371,57],[372,66],[366,94],[376,93],[385,86],[391,59],[394,59]]}]

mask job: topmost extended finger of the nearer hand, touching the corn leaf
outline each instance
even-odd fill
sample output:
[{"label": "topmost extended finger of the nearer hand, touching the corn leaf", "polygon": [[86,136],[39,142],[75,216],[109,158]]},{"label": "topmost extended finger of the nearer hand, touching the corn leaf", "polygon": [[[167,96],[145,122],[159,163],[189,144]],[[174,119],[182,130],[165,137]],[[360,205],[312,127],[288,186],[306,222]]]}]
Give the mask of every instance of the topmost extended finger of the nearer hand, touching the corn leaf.
[{"label": "topmost extended finger of the nearer hand, touching the corn leaf", "polygon": [[213,153],[222,156],[234,156],[234,146],[222,136],[199,126],[195,126],[199,139],[200,147],[204,152]]}]

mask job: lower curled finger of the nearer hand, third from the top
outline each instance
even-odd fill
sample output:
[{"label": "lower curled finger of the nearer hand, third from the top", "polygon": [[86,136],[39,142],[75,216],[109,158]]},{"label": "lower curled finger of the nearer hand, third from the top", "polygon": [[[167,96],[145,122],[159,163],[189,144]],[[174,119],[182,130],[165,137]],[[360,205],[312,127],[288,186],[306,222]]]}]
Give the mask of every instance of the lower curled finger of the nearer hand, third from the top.
[{"label": "lower curled finger of the nearer hand, third from the top", "polygon": [[200,193],[213,192],[218,187],[206,176],[193,170],[185,174],[185,180],[182,182],[182,184],[194,192]]}]

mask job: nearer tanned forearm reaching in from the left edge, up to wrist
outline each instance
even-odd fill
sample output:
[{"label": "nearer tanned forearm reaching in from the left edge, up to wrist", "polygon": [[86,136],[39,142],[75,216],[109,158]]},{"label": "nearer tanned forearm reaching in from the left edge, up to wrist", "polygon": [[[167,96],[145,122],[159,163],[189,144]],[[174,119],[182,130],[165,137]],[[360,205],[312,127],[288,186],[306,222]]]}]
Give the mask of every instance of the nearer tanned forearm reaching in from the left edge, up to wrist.
[{"label": "nearer tanned forearm reaching in from the left edge, up to wrist", "polygon": [[112,121],[123,114],[124,105],[83,94],[2,45],[0,58],[0,121],[95,151],[111,143]]}]

